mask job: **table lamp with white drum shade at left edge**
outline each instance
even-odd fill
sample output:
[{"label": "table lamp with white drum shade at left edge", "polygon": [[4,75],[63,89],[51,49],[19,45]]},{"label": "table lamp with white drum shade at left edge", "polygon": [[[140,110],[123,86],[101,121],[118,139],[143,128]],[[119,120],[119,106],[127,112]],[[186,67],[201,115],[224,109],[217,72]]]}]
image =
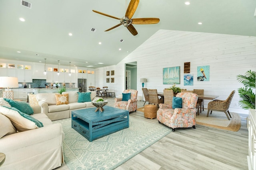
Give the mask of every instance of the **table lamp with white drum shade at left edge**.
[{"label": "table lamp with white drum shade at left edge", "polygon": [[0,77],[0,88],[7,88],[7,91],[3,91],[3,98],[8,98],[13,100],[13,91],[9,88],[18,88],[18,78],[17,77]]}]

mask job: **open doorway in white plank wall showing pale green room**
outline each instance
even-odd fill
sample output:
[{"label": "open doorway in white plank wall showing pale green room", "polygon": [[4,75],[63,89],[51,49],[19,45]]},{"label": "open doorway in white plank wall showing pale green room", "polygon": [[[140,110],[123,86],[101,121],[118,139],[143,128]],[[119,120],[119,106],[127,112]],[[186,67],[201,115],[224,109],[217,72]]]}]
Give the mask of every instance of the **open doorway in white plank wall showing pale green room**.
[{"label": "open doorway in white plank wall showing pale green room", "polygon": [[125,89],[137,90],[137,62],[125,64]]}]

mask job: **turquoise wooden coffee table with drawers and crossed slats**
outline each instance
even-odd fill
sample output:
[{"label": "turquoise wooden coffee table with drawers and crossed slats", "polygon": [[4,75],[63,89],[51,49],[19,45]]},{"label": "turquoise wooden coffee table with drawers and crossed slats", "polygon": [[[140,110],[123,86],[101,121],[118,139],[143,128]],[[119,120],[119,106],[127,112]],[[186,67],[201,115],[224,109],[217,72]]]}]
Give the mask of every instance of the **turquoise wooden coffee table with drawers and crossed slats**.
[{"label": "turquoise wooden coffee table with drawers and crossed slats", "polygon": [[129,127],[129,112],[110,106],[95,112],[95,107],[72,111],[72,128],[93,141]]}]

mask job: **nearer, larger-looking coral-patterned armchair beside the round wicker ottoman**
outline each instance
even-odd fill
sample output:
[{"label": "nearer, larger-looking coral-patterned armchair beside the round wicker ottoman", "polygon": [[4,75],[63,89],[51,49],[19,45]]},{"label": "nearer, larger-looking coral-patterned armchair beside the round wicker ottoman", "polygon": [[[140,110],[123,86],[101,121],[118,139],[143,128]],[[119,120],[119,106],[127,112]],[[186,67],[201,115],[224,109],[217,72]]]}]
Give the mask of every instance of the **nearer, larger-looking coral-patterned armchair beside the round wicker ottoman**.
[{"label": "nearer, larger-looking coral-patterned armchair beside the round wicker ottoman", "polygon": [[157,111],[158,122],[172,128],[172,131],[178,127],[193,127],[195,129],[198,95],[181,92],[176,97],[182,98],[182,108],[173,109],[171,104],[161,104]]}]

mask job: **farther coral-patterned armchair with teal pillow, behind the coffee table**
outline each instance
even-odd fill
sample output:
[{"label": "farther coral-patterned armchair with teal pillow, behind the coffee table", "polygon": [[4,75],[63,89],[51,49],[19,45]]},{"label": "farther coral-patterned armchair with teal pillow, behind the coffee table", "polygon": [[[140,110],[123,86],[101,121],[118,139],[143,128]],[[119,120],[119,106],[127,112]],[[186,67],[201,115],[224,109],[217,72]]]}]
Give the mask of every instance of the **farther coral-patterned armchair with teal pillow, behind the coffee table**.
[{"label": "farther coral-patterned armchair with teal pillow, behind the coffee table", "polygon": [[[125,94],[130,93],[130,98],[126,98],[124,96],[126,96]],[[137,90],[132,90],[132,89],[128,89],[128,90],[124,90],[123,92],[123,100],[121,98],[115,98],[115,103],[114,103],[114,107],[118,108],[118,109],[124,109],[124,110],[128,110],[129,113],[131,111],[136,111],[137,110],[137,94],[138,91]],[[125,101],[127,100],[127,101]]]}]

